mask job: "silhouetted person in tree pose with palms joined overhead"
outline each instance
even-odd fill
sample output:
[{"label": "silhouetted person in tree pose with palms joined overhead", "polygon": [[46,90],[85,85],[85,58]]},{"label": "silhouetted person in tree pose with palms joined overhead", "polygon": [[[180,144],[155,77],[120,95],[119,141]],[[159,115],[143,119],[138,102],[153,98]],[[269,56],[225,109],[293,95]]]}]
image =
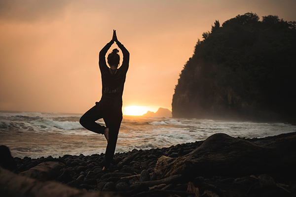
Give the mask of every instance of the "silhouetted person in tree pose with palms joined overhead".
[{"label": "silhouetted person in tree pose with palms joined overhead", "polygon": [[[107,60],[110,68],[106,64],[106,53],[114,42],[123,54],[122,65],[119,68],[120,57],[117,54],[119,52],[118,49],[113,49],[108,55]],[[96,102],[95,106],[81,116],[79,122],[87,130],[105,135],[108,145],[103,171],[106,171],[109,170],[113,159],[122,121],[122,93],[129,66],[129,52],[118,41],[115,30],[113,30],[111,41],[99,53],[99,66],[102,77],[102,98],[99,102]],[[103,118],[106,127],[95,122],[101,118]]]}]

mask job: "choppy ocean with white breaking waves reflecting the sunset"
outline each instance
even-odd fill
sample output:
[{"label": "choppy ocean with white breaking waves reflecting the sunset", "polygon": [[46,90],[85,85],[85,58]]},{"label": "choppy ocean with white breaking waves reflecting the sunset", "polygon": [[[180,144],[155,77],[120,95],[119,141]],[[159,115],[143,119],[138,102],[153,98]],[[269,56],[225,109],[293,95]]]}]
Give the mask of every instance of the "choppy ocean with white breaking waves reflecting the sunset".
[{"label": "choppy ocean with white breaking waves reflecting the sunset", "polygon": [[[0,111],[0,145],[19,158],[105,153],[104,135],[84,129],[81,115]],[[294,131],[296,126],[284,123],[123,116],[115,153],[205,140],[214,133],[254,138]]]}]

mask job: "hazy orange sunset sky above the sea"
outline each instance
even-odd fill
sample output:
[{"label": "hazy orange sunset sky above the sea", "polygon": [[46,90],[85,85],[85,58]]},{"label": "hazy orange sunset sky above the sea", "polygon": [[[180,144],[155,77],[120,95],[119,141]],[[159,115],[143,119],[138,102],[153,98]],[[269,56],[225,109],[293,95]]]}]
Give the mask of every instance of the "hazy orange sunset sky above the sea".
[{"label": "hazy orange sunset sky above the sea", "polygon": [[113,29],[130,52],[123,107],[171,109],[179,73],[215,20],[253,12],[295,21],[295,8],[295,0],[0,0],[0,110],[84,113],[101,98],[98,53]]}]

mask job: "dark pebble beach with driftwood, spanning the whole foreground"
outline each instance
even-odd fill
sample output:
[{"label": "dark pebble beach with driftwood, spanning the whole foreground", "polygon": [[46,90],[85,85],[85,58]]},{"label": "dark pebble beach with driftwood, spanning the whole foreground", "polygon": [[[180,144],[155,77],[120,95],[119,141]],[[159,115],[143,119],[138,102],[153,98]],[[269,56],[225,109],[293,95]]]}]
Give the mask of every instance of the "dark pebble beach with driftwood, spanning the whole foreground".
[{"label": "dark pebble beach with driftwood, spanning the whole foreground", "polygon": [[[205,141],[114,155],[8,158],[1,146],[4,196],[293,197],[296,133]],[[6,151],[6,153],[5,153]],[[14,173],[12,173],[12,172]]]}]

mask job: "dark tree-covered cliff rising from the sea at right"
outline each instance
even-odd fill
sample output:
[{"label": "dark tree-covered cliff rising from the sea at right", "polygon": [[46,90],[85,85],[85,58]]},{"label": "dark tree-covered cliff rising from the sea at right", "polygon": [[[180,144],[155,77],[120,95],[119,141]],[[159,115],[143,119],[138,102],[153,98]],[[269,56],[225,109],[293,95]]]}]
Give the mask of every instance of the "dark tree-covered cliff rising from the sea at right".
[{"label": "dark tree-covered cliff rising from the sea at right", "polygon": [[173,117],[295,116],[295,21],[246,13],[202,36],[181,71]]}]

